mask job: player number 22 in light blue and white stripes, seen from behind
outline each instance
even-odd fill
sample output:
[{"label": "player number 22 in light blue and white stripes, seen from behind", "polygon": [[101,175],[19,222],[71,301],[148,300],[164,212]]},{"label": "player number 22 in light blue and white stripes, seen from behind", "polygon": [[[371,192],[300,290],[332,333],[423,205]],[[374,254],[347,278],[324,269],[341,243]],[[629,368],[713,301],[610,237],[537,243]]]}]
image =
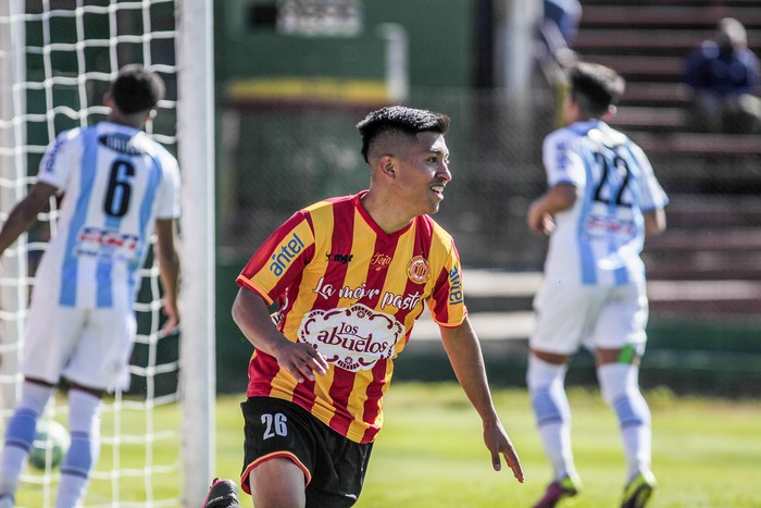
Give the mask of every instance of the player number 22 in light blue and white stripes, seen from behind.
[{"label": "player number 22 in light blue and white stripes, seen from behind", "polygon": [[581,491],[571,451],[564,388],[567,362],[581,346],[595,352],[604,400],[621,425],[628,472],[623,507],[645,506],[650,471],[650,411],[638,386],[648,300],[639,257],[645,236],[665,228],[668,198],[643,150],[604,120],[624,80],[579,62],[570,73],[566,126],[545,138],[549,189],[528,210],[528,226],[551,235],[545,278],[534,300],[536,330],[526,381],[554,478],[537,507]]}]

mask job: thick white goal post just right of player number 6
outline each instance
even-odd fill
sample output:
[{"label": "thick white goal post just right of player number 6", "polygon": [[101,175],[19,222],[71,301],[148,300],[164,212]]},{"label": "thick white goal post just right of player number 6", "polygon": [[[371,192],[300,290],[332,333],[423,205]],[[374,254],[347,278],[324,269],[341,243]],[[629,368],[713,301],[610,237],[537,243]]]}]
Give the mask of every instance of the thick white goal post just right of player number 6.
[{"label": "thick white goal post just right of player number 6", "polygon": [[180,389],[185,506],[194,506],[207,494],[215,449],[213,7],[212,0],[179,0],[179,5]]}]

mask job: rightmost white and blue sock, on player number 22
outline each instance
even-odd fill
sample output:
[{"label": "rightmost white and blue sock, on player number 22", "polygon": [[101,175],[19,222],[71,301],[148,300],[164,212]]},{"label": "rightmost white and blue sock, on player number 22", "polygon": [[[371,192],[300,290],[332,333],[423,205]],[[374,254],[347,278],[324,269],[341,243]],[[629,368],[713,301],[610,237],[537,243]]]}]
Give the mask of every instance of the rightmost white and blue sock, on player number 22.
[{"label": "rightmost white and blue sock, on player number 22", "polygon": [[650,471],[652,430],[650,408],[639,391],[639,368],[608,363],[597,369],[604,400],[615,410],[627,464],[627,482]]}]

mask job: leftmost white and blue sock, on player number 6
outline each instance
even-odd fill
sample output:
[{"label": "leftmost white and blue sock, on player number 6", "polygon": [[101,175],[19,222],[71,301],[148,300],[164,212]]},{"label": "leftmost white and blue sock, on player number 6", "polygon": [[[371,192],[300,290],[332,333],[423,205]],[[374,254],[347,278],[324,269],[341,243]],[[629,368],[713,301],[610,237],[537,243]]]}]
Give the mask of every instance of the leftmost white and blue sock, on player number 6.
[{"label": "leftmost white and blue sock, on player number 6", "polygon": [[[3,506],[3,503],[8,506],[8,501],[13,506],[13,498],[18,488],[18,476],[29,456],[37,422],[45,412],[52,393],[52,386],[26,381],[22,384],[21,399],[8,421],[5,444],[0,457],[0,506]],[[12,445],[9,446],[9,443]]]}]

